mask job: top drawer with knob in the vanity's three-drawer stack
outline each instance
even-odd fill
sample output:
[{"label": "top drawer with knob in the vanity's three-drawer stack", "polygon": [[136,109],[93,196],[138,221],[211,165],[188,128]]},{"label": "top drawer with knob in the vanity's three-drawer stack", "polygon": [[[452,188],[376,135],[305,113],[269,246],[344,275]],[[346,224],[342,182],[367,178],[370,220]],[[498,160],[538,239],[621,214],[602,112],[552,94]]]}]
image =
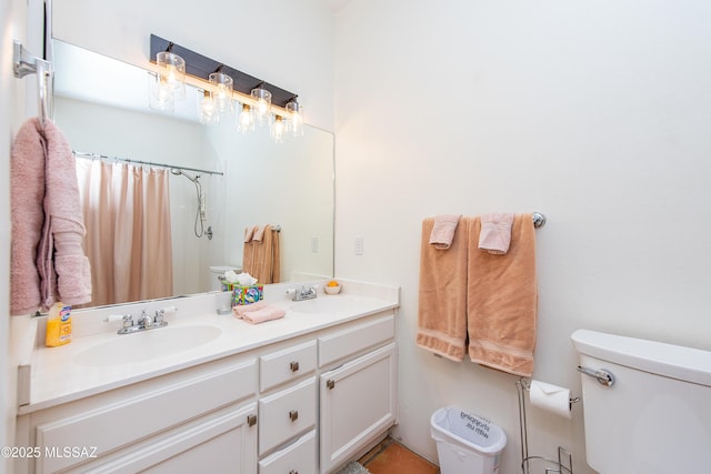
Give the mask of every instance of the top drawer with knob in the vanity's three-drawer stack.
[{"label": "top drawer with knob in the vanity's three-drawer stack", "polygon": [[316,370],[316,341],[272,352],[260,359],[259,383],[262,392],[308,375]]}]

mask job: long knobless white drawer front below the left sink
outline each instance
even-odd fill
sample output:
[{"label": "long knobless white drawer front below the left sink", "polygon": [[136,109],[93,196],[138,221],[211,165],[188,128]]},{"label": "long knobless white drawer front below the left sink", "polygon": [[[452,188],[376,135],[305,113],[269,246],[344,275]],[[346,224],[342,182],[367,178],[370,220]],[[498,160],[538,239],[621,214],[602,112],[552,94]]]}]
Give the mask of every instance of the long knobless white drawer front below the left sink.
[{"label": "long knobless white drawer front below the left sink", "polygon": [[[71,440],[72,446],[96,446],[96,454],[101,456],[256,392],[257,360],[250,360],[97,410],[42,423],[37,426],[37,445],[42,450],[61,450],[68,445],[67,440]],[[111,428],[116,426],[120,426],[120,430]],[[80,461],[42,456],[37,460],[37,472],[56,472]]]}]

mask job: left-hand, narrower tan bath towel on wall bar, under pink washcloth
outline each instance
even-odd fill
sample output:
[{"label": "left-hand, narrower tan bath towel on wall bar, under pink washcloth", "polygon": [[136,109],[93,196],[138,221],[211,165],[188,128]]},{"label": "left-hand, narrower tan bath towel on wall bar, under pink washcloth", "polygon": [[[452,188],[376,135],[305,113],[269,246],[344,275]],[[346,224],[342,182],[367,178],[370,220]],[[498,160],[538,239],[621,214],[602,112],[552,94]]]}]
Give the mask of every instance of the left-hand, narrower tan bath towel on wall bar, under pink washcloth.
[{"label": "left-hand, narrower tan bath towel on wall bar, under pink washcloth", "polygon": [[417,344],[452,361],[467,350],[467,243],[462,218],[447,252],[430,245],[434,219],[422,221]]}]

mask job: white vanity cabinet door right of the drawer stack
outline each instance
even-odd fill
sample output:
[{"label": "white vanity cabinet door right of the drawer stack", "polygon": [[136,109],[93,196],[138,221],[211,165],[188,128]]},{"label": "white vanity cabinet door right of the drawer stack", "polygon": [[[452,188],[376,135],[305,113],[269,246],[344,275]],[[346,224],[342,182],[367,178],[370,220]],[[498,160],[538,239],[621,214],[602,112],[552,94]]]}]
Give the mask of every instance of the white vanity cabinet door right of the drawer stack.
[{"label": "white vanity cabinet door right of the drawer stack", "polygon": [[331,472],[394,424],[395,377],[394,343],[321,375],[321,473]]}]

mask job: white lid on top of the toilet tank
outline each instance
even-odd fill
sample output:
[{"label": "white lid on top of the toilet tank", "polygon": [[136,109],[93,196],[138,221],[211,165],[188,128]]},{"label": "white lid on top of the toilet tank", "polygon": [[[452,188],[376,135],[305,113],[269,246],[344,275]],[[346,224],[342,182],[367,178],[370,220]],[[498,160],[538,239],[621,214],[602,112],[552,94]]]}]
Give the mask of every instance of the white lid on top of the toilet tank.
[{"label": "white lid on top of the toilet tank", "polygon": [[711,352],[709,351],[590,330],[578,330],[573,332],[571,339],[581,354],[711,386]]}]

